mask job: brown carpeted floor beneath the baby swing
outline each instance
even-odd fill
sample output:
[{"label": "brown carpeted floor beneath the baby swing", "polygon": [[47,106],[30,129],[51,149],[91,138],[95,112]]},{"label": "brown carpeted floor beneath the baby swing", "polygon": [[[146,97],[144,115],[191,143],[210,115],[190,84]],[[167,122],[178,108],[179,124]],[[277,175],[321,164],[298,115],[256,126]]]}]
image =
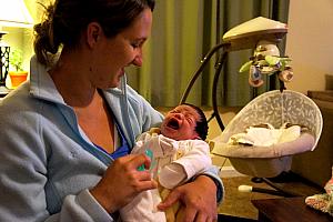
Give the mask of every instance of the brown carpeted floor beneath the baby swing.
[{"label": "brown carpeted floor beneath the baby swing", "polygon": [[[269,193],[259,193],[259,192],[240,192],[239,185],[252,185],[258,189],[270,189],[276,191],[265,182],[253,182],[253,178],[242,175],[242,176],[231,176],[231,178],[222,178],[225,195],[223,202],[219,206],[219,213],[230,216],[236,216],[244,219],[256,220],[258,219],[258,210],[252,205],[251,200],[258,199],[276,199],[283,198],[281,195],[269,194]],[[279,181],[281,179],[272,179],[274,185],[283,188],[284,191],[290,192],[295,195],[312,195],[315,193],[321,193],[322,189],[317,186],[309,185],[307,183],[296,181],[294,178],[291,180],[287,175],[283,175],[283,181]],[[271,181],[271,182],[272,182]],[[228,220],[221,220],[228,221]],[[240,220],[229,220],[229,221],[240,221]]]}]

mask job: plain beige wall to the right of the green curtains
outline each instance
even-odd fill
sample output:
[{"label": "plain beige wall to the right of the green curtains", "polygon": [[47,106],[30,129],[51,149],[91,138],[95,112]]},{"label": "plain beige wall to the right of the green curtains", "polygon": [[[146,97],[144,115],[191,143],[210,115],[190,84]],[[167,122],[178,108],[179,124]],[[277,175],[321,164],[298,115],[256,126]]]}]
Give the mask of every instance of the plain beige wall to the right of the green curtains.
[{"label": "plain beige wall to the right of the green curtains", "polygon": [[286,88],[324,90],[325,74],[333,75],[333,0],[291,0],[287,26],[294,79]]}]

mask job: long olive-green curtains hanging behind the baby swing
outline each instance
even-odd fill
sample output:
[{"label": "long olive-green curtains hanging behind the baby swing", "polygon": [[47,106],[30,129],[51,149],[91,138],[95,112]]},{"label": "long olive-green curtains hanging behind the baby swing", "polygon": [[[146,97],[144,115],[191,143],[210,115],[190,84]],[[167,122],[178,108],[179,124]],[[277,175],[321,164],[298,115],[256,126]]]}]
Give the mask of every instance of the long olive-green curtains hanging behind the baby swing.
[{"label": "long olive-green curtains hanging behind the baby swing", "polygon": [[[219,10],[218,10],[219,8]],[[179,103],[201,59],[222,40],[231,28],[259,16],[287,22],[289,0],[157,0],[152,36],[144,44],[143,67],[128,68],[129,84],[153,107]],[[284,41],[279,46],[282,54]],[[248,83],[248,74],[239,73],[253,50],[228,54],[219,79],[218,104],[240,107],[251,99],[279,88],[270,78],[259,89]],[[212,105],[212,82],[216,57],[193,85],[186,102]]]}]

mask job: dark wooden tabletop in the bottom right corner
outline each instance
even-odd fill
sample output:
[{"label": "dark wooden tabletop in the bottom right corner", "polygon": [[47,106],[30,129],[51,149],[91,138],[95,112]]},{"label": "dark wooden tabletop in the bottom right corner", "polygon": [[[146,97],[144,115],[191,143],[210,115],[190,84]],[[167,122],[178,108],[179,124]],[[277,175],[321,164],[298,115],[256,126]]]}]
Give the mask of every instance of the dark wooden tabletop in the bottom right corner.
[{"label": "dark wooden tabletop in the bottom right corner", "polygon": [[333,221],[327,213],[314,210],[304,203],[302,198],[262,199],[252,200],[252,204],[259,210],[259,221],[272,222],[326,222]]}]

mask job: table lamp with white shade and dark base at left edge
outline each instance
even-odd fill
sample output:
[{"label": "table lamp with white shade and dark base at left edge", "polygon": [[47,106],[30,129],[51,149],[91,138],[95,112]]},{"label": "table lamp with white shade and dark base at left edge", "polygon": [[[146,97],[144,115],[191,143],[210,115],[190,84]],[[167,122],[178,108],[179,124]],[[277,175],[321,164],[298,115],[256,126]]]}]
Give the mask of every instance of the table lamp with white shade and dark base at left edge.
[{"label": "table lamp with white shade and dark base at left edge", "polygon": [[2,39],[8,32],[2,27],[32,28],[33,19],[23,0],[0,0],[0,97],[8,93],[6,78],[9,71],[10,46]]}]

